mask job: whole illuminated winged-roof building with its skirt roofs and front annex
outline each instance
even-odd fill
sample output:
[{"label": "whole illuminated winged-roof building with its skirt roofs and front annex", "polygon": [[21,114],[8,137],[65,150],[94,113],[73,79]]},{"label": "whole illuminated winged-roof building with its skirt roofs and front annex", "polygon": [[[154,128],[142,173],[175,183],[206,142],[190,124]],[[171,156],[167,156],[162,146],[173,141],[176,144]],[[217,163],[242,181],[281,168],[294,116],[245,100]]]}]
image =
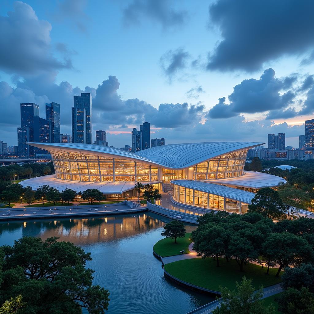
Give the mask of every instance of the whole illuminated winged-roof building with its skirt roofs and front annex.
[{"label": "whole illuminated winged-roof building with its skirt roofs and front annex", "polygon": [[244,171],[247,151],[263,144],[257,142],[170,144],[135,154],[91,144],[28,144],[48,150],[56,172],[21,182],[34,190],[44,184],[59,191],[95,188],[107,198],[125,198],[136,196],[134,185],[142,182],[160,191],[172,187],[173,201],[195,213],[200,208],[245,213],[258,189],[285,183],[277,176]]}]

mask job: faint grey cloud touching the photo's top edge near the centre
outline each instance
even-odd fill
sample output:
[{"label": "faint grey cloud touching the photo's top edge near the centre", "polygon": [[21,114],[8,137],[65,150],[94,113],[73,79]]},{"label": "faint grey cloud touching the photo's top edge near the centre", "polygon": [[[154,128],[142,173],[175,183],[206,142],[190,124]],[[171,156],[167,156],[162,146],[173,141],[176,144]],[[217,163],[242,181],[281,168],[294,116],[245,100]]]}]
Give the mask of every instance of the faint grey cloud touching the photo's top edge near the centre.
[{"label": "faint grey cloud touching the photo's top edge near the centre", "polygon": [[187,12],[173,8],[174,4],[171,0],[133,0],[123,10],[124,23],[141,24],[143,19],[149,19],[160,23],[163,29],[182,25]]}]

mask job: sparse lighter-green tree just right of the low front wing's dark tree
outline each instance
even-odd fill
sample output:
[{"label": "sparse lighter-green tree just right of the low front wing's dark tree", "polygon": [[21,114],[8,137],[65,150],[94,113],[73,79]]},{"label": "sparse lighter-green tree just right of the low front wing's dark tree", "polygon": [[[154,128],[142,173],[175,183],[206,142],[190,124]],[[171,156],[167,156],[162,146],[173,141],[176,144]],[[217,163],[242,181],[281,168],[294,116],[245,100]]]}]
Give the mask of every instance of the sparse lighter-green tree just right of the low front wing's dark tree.
[{"label": "sparse lighter-green tree just right of the low front wing's dark tree", "polygon": [[299,209],[304,208],[306,202],[311,201],[306,192],[289,184],[280,187],[278,193],[284,203],[285,212],[289,220],[294,219]]}]

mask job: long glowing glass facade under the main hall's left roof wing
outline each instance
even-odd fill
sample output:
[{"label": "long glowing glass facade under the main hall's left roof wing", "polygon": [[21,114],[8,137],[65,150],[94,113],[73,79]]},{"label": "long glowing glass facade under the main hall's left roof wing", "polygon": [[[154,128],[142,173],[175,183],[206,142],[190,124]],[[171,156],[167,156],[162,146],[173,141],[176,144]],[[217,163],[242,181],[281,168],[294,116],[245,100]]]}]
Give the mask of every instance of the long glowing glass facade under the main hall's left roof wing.
[{"label": "long glowing glass facade under the main hall's left roof wing", "polygon": [[136,161],[51,151],[56,177],[91,182],[158,181],[158,168]]}]

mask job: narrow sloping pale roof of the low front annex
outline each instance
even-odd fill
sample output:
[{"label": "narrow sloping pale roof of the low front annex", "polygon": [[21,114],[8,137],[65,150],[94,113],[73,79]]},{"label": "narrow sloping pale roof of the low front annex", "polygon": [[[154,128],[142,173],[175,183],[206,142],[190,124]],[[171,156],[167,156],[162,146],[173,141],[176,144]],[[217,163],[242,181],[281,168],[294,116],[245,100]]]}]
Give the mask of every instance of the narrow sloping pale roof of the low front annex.
[{"label": "narrow sloping pale roof of the low front annex", "polygon": [[252,192],[235,189],[233,187],[224,187],[222,185],[213,183],[205,183],[202,181],[172,180],[171,183],[180,185],[181,187],[187,187],[189,189],[231,198],[235,201],[244,202],[247,204],[251,204],[252,198],[255,196],[255,194]]}]

